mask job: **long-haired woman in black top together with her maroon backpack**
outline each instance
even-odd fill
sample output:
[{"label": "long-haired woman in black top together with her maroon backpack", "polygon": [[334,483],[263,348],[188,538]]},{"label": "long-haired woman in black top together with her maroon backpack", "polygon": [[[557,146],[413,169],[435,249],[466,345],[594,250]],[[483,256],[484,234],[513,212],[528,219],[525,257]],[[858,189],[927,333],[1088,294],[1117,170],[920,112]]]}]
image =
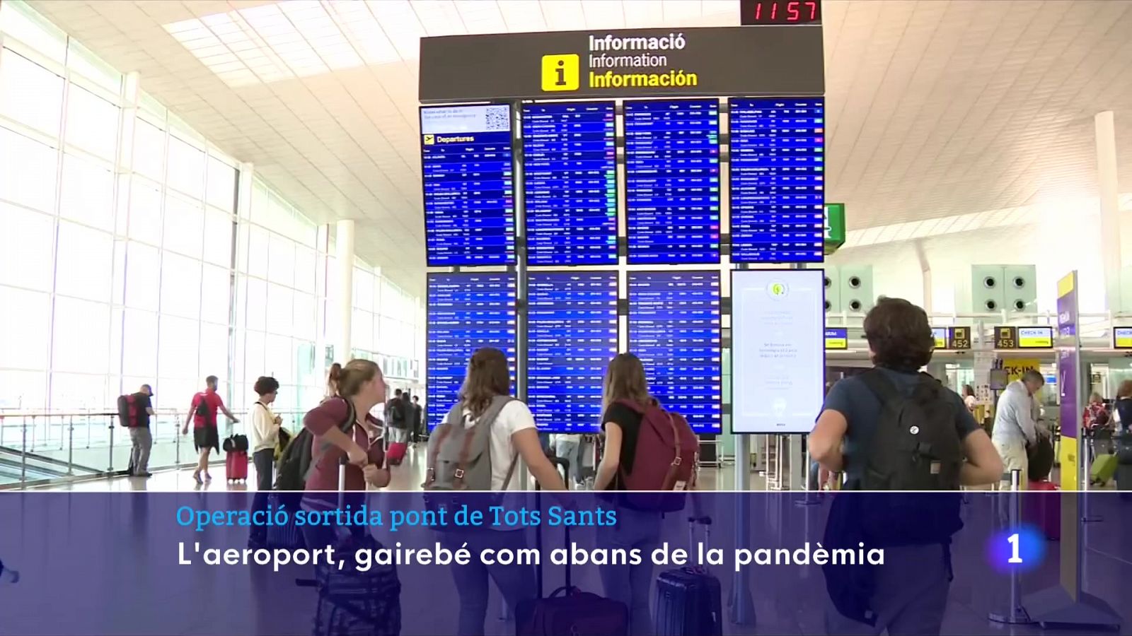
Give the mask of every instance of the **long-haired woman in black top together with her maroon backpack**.
[{"label": "long-haired woman in black top together with her maroon backpack", "polygon": [[[700,442],[687,421],[661,409],[649,393],[644,366],[632,353],[609,362],[602,387],[601,429],[606,441],[594,490],[691,490]],[[677,462],[679,459],[679,462]],[[663,512],[683,508],[679,495],[621,495],[614,499],[617,525],[598,533],[606,549],[638,549],[649,555],[660,543]],[[667,505],[675,504],[675,505]],[[606,595],[629,609],[629,634],[652,634],[649,596],[653,564],[601,568]]]}]

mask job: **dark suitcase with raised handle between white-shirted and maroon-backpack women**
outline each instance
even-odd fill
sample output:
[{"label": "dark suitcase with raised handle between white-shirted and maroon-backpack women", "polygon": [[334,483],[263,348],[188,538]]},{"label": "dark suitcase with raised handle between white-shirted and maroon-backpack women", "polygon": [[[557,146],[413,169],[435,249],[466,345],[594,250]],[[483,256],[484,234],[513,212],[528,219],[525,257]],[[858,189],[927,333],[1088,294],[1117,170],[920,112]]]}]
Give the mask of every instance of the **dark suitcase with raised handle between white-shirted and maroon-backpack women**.
[{"label": "dark suitcase with raised handle between white-shirted and maroon-backpack women", "polygon": [[[566,481],[569,462],[559,457],[551,457],[550,461],[563,474],[563,481]],[[538,507],[541,508],[541,501]],[[569,526],[563,527],[566,532],[566,545],[569,545]],[[534,541],[535,548],[541,552],[540,528],[534,532]],[[523,601],[515,608],[516,636],[628,635],[629,609],[624,603],[574,587],[571,583],[569,565],[566,566],[566,585],[555,590],[549,596],[542,594],[541,559],[535,576],[538,598]]]}]

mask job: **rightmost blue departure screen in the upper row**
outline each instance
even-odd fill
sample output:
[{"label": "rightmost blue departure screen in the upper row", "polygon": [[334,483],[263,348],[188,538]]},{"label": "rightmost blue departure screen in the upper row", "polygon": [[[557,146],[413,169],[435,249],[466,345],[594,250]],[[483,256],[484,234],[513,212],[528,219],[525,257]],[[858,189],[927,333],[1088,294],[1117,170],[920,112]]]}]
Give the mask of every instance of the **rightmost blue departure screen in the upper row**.
[{"label": "rightmost blue departure screen in the upper row", "polygon": [[732,98],[731,263],[821,263],[825,105]]}]

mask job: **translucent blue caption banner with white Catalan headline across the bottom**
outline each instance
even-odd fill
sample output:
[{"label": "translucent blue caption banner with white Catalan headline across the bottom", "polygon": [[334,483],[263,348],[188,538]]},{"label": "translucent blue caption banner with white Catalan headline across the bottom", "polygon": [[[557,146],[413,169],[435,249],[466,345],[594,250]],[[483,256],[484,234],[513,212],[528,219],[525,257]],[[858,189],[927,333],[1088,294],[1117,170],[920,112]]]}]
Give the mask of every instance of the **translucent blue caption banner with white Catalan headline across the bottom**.
[{"label": "translucent blue caption banner with white Catalan headline across the bottom", "polygon": [[[541,561],[549,595],[564,582],[563,559],[575,564],[573,585],[604,596],[628,594],[616,583],[629,579],[618,577],[623,566],[610,564],[646,564],[651,573],[636,579],[650,582],[653,604],[658,576],[704,566],[721,584],[724,634],[855,633],[864,626],[844,616],[855,607],[881,621],[899,614],[908,629],[935,622],[945,634],[986,634],[1012,574],[1023,595],[1058,584],[1054,540],[1066,497],[1101,519],[1081,538],[1083,588],[1122,612],[1129,633],[1132,500],[1118,493],[1024,493],[1021,522],[1007,527],[1010,496],[989,492],[697,492],[663,516],[637,508],[672,501],[592,492],[261,497],[258,516],[247,492],[10,492],[0,495],[9,571],[0,576],[0,634],[311,634],[331,616],[319,585],[358,581],[369,590],[365,611],[388,621],[377,633],[400,624],[406,635],[455,634],[458,620],[486,612],[479,633],[514,634],[499,590],[534,598]],[[696,527],[689,539],[689,515],[710,516],[710,535]],[[306,527],[293,535],[248,525],[300,517]],[[951,530],[949,583],[949,550],[923,542]],[[306,547],[251,549],[257,532],[303,536]],[[317,571],[316,559],[333,565]],[[516,561],[532,565],[499,565]],[[744,586],[749,596],[737,594]],[[739,607],[751,610],[745,625],[731,621]]]}]

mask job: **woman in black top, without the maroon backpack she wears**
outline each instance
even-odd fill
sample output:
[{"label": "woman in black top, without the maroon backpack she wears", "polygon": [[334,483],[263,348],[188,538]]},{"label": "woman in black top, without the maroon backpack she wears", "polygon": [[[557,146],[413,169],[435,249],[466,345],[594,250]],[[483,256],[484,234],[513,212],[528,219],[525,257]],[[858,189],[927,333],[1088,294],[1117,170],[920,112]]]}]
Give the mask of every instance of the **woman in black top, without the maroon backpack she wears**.
[{"label": "woman in black top, without the maroon backpack she wears", "polygon": [[[633,472],[636,442],[644,412],[659,402],[649,393],[644,366],[632,353],[620,353],[609,362],[601,392],[601,429],[606,437],[598,464],[595,490],[624,490],[620,476]],[[617,506],[617,525],[598,533],[606,549],[641,550],[649,555],[660,543],[661,514]],[[649,593],[653,565],[610,565],[600,568],[606,596],[629,608],[629,634],[652,634]]]}]

